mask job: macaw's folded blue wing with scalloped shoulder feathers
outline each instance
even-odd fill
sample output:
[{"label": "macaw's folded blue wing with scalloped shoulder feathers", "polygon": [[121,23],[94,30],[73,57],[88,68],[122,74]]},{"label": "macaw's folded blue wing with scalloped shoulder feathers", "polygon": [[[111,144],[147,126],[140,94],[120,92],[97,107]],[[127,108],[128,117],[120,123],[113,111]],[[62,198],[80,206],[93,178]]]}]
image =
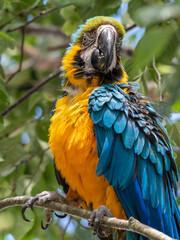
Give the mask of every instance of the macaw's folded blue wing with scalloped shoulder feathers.
[{"label": "macaw's folded blue wing with scalloped shoulder feathers", "polygon": [[[151,105],[123,91],[128,86],[103,85],[89,98],[99,157],[96,173],[113,186],[128,218],[179,239],[173,171],[178,174],[168,135]],[[127,236],[137,239],[136,234]]]}]

